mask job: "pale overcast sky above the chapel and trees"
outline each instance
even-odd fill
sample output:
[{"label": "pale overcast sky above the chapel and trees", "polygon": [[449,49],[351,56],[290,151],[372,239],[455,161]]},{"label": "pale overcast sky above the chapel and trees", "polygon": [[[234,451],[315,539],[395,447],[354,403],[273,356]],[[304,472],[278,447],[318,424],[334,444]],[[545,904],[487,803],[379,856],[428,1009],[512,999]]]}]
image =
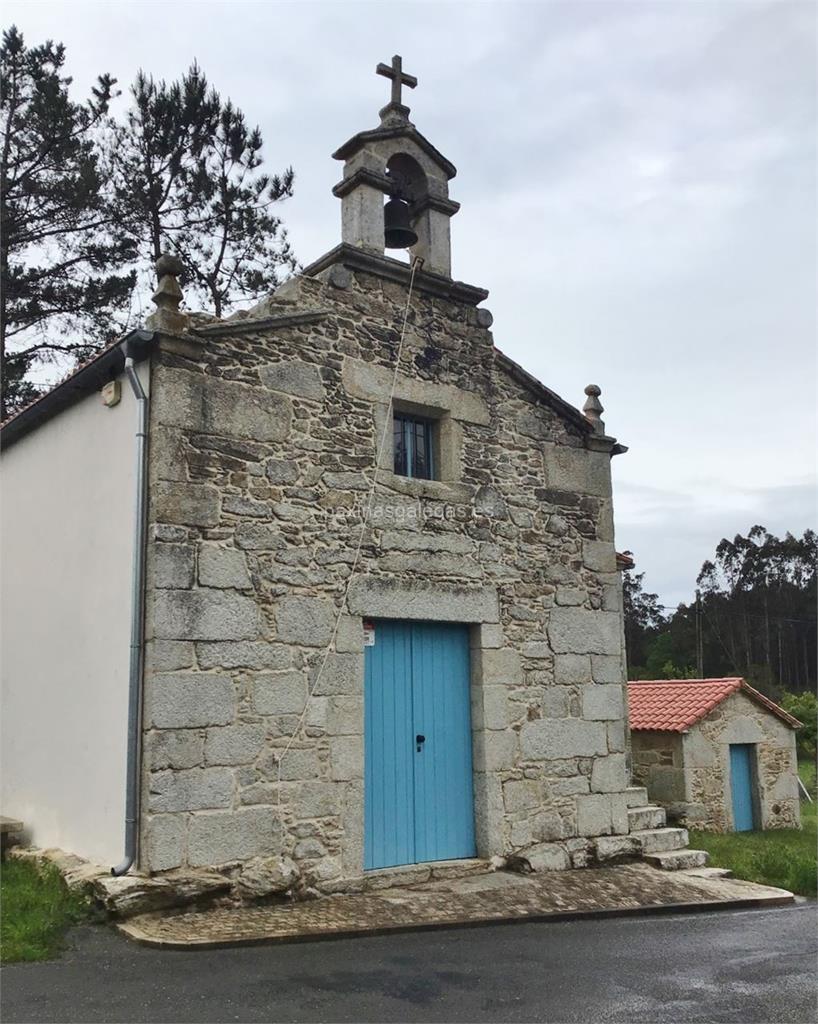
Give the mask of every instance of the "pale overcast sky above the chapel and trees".
[{"label": "pale overcast sky above the chapel and trees", "polygon": [[602,387],[616,543],[670,605],[724,536],[816,521],[816,6],[756,2],[54,3],[29,43],[100,72],[197,58],[257,122],[306,264],[340,241],[332,152],[375,127],[393,53],[458,167],[454,275],[566,399]]}]

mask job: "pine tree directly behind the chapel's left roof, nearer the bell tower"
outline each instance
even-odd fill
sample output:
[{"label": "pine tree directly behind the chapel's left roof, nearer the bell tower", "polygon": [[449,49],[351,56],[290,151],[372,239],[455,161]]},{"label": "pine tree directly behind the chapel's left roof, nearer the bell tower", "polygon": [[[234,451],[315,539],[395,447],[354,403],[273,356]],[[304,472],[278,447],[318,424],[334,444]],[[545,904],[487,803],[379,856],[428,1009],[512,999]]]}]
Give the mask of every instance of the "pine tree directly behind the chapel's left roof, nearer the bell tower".
[{"label": "pine tree directly behind the chapel's left roof, nearer the bell tower", "polygon": [[259,171],[261,132],[196,63],[170,85],[140,72],[132,95],[111,154],[121,222],[143,264],[164,251],[180,256],[188,294],[217,316],[274,289],[296,266],[272,212],[292,196],[292,168]]}]

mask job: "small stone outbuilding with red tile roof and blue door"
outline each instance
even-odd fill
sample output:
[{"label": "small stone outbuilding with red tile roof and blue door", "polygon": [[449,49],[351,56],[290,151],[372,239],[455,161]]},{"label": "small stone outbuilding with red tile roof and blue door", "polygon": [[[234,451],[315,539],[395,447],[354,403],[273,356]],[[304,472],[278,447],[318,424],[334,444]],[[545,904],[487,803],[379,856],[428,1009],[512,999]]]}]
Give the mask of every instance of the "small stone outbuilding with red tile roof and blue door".
[{"label": "small stone outbuilding with red tile roof and blue door", "polygon": [[706,831],[801,825],[801,723],[743,679],[628,684],[634,781]]}]

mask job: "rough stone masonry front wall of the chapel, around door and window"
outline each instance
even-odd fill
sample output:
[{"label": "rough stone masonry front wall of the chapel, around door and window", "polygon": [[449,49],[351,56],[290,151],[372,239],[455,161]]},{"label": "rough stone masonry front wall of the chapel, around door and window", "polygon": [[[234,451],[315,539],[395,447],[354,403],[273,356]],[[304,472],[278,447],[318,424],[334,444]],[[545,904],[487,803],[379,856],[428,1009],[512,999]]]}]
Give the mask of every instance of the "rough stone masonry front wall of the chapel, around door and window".
[{"label": "rough stone masonry front wall of the chapel, around door and window", "polygon": [[419,289],[395,395],[439,416],[446,475],[395,476],[389,451],[344,606],[406,289],[337,269],[160,339],[141,865],[360,878],[370,616],[473,624],[479,852],[582,864],[628,831],[611,441]]}]

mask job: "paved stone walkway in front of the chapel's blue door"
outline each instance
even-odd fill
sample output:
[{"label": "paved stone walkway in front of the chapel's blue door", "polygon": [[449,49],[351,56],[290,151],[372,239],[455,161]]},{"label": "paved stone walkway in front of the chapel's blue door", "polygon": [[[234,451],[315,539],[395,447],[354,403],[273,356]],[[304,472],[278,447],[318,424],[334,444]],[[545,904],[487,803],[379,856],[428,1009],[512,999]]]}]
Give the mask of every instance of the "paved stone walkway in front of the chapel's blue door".
[{"label": "paved stone walkway in front of the chapel's blue door", "polygon": [[541,874],[498,871],[303,903],[149,913],[117,927],[146,945],[212,948],[497,921],[792,900],[783,889],[635,863]]}]

